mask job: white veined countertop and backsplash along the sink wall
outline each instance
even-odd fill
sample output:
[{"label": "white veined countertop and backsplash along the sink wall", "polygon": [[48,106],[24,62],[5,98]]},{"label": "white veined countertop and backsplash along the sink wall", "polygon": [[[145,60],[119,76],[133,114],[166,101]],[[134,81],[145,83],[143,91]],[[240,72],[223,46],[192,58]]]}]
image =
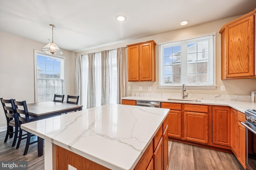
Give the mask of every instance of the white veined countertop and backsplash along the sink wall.
[{"label": "white veined countertop and backsplash along the sink wall", "polygon": [[132,92],[131,96],[124,97],[126,100],[144,100],[155,102],[185,103],[185,104],[204,104],[230,106],[244,113],[246,109],[256,109],[256,102],[251,102],[251,96],[241,95],[216,95],[216,94],[188,94],[188,99],[198,99],[201,102],[174,101],[168,98],[181,99],[181,93],[140,93]]}]

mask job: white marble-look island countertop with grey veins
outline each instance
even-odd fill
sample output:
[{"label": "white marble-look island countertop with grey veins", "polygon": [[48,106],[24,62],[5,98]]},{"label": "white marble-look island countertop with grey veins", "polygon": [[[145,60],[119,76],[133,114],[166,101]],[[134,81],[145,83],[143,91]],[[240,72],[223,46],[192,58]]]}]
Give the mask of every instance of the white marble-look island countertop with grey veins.
[{"label": "white marble-look island countertop with grey veins", "polygon": [[110,104],[21,125],[60,147],[114,170],[132,170],[169,109]]}]

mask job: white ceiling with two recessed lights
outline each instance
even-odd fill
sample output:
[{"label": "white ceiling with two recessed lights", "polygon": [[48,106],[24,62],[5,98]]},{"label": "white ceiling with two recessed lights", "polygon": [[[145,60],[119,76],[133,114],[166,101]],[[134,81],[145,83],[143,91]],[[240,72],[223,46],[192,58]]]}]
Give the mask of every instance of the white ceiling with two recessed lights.
[{"label": "white ceiling with two recessed lights", "polygon": [[[251,12],[256,0],[0,0],[0,30],[83,51]],[[126,21],[116,21],[116,16]],[[188,25],[179,22],[189,20]]]}]

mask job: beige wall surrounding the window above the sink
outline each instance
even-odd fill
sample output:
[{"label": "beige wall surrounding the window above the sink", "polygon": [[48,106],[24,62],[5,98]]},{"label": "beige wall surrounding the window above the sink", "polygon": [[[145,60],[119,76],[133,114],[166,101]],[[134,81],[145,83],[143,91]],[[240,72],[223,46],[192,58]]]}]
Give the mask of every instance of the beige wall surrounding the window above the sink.
[{"label": "beige wall surrounding the window above the sink", "polygon": [[[238,79],[238,80],[221,80],[221,56],[220,56],[220,34],[218,33],[222,25],[232,21],[239,16],[226,18],[223,20],[212,21],[184,29],[178,29],[162,34],[153,35],[150,37],[144,37],[135,40],[128,40],[122,43],[114,45],[108,45],[104,47],[98,47],[76,53],[76,55],[83,55],[92,52],[98,52],[102,50],[115,49],[118,47],[126,46],[133,43],[144,42],[153,39],[156,45],[156,82],[128,82],[127,85],[131,86],[131,90],[126,90],[127,96],[130,96],[131,92],[162,92],[162,93],[179,93],[181,89],[160,89],[158,88],[158,43],[173,41],[178,39],[184,39],[187,37],[193,37],[206,33],[216,32],[216,89],[189,89],[188,93],[194,94],[236,94],[236,95],[249,95],[250,91],[256,91],[256,79]],[[143,90],[138,90],[139,86],[143,86]],[[152,86],[152,90],[148,91],[148,86]],[[220,86],[225,86],[226,91],[220,91]]]}]

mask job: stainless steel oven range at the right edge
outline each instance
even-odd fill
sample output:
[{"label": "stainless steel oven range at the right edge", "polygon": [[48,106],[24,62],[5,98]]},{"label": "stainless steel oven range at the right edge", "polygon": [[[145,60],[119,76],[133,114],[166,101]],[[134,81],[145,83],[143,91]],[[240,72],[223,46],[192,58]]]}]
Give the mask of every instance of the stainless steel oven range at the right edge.
[{"label": "stainless steel oven range at the right edge", "polygon": [[246,122],[241,123],[246,127],[246,159],[248,170],[256,170],[256,109],[245,111]]}]

